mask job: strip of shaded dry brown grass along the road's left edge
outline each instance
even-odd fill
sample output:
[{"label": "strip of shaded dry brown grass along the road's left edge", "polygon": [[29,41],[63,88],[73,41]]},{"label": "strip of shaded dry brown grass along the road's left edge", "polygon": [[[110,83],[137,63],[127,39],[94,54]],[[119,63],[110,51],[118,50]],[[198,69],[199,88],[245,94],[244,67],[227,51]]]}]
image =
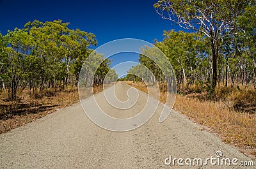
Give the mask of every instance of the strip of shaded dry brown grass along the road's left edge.
[{"label": "strip of shaded dry brown grass along the road's left edge", "polygon": [[[102,86],[93,87],[93,92],[102,91]],[[59,108],[68,107],[79,101],[77,87],[67,87],[65,90],[47,89],[47,91],[29,94],[29,91],[19,93],[19,101],[6,101],[0,93],[0,133],[24,126],[36,121]]]}]

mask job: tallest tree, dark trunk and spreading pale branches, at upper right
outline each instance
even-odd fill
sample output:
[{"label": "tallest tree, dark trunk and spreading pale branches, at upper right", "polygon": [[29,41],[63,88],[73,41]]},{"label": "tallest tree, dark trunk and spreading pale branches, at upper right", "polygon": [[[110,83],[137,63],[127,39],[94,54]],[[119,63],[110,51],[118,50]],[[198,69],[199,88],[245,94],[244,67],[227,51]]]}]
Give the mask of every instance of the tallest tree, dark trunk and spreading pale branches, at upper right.
[{"label": "tallest tree, dark trunk and spreading pale branches, at upper right", "polygon": [[220,41],[229,34],[234,34],[236,20],[250,1],[240,0],[161,0],[154,4],[156,12],[179,24],[184,29],[204,33],[211,41],[212,50],[212,87],[217,83],[217,60]]}]

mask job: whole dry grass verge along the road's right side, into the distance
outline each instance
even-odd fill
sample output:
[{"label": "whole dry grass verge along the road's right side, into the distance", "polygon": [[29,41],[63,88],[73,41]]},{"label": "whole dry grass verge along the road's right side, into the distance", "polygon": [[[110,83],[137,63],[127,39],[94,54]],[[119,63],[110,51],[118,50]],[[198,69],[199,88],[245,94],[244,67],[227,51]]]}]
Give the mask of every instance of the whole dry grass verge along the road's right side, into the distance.
[{"label": "whole dry grass verge along the road's right side, into the distance", "polygon": [[[131,84],[131,82],[127,84]],[[135,82],[133,86],[141,91],[147,91],[146,85],[142,82]],[[239,90],[228,92],[229,100],[237,103],[248,99],[251,101],[255,98],[250,89],[244,90],[242,92]],[[202,96],[202,94],[196,95]],[[161,92],[160,101],[164,102],[165,98],[166,92]],[[224,103],[221,99],[220,101],[202,101],[197,96],[189,98],[189,96],[182,96],[181,94],[177,94],[173,108],[193,121],[207,126],[211,132],[220,136],[223,142],[235,145],[242,152],[256,158],[255,114],[237,112],[234,108],[228,107],[227,103]]]}]

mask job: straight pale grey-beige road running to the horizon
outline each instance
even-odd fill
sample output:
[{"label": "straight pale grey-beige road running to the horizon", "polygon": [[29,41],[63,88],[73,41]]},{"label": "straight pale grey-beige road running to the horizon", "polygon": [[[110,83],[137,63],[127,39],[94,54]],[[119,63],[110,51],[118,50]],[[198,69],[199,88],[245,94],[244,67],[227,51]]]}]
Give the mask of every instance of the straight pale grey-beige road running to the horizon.
[{"label": "straight pale grey-beige road running to the horizon", "polygon": [[[128,85],[118,83],[116,96],[125,101],[128,89]],[[106,104],[103,92],[95,98],[100,107],[107,108],[107,114],[125,118],[132,117],[135,110],[141,110],[147,102],[147,94],[138,93],[136,107],[124,111]],[[150,104],[157,102],[149,101],[152,101]],[[218,165],[217,159],[221,158],[230,158],[230,161],[237,158],[234,161],[237,165],[252,159],[184,115],[172,111],[160,123],[160,113],[157,109],[140,128],[115,132],[95,125],[84,114],[81,103],[76,103],[0,135],[0,168],[255,168],[255,161],[251,167]],[[211,165],[210,159],[207,165],[193,165],[195,158],[202,159],[202,163],[207,158],[216,158],[217,151],[223,156],[216,159],[216,165]],[[171,161],[176,158],[174,166],[164,163],[170,163],[166,159],[170,156]],[[181,165],[177,163],[178,158],[184,159],[180,160]]]}]

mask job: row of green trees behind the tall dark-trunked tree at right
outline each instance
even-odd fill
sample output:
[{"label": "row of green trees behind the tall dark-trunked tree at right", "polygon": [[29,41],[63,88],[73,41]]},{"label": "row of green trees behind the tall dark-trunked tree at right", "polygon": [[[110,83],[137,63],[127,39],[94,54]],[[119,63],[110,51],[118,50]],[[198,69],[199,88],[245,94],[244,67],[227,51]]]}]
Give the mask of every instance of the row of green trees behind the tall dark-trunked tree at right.
[{"label": "row of green trees behind the tall dark-trunked tree at right", "polygon": [[[184,92],[191,85],[198,85],[199,88],[206,85],[206,90],[211,94],[213,89],[211,84],[213,74],[211,40],[202,33],[184,33],[174,30],[164,31],[163,36],[163,41],[156,41],[155,45],[172,63],[179,89]],[[228,84],[231,87],[234,84],[255,84],[255,47],[250,47],[250,43],[248,43],[249,39],[253,41],[254,36],[254,34],[248,36],[241,32],[234,38],[226,37],[220,41],[216,70],[218,86],[221,84],[225,87]],[[251,45],[255,44],[251,42]],[[156,62],[143,55],[146,53],[150,54],[149,47],[142,48],[140,63],[147,66],[158,82],[164,82],[163,72]],[[130,75],[127,75],[124,80],[141,81],[141,78],[132,75],[134,73],[141,75],[142,73],[141,76],[143,76],[144,71],[141,71],[140,67],[140,64],[133,66],[128,71]],[[151,77],[148,76],[148,78]]]}]

